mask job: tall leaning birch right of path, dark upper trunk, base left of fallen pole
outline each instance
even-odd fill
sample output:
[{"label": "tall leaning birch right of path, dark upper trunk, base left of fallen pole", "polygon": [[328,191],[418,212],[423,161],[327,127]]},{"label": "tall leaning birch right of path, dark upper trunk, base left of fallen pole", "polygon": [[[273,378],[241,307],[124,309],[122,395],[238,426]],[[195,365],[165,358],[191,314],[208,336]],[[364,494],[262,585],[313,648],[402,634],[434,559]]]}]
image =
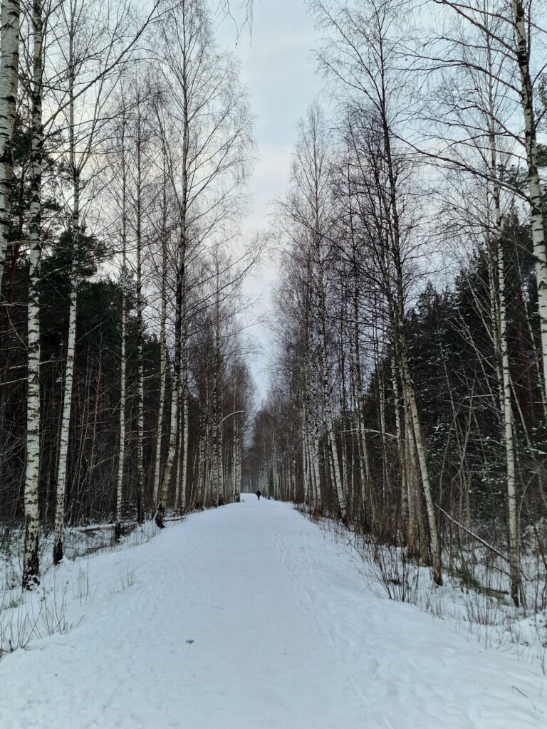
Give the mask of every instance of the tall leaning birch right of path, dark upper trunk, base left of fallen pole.
[{"label": "tall leaning birch right of path, dark upper trunk, base left of fallen pole", "polygon": [[381,244],[378,262],[384,268],[384,292],[389,305],[392,340],[422,477],[430,532],[432,574],[435,582],[441,585],[441,542],[422,424],[408,364],[405,324],[408,292],[406,257],[414,221],[406,221],[403,215],[405,206],[402,190],[404,181],[410,175],[401,157],[397,157],[400,125],[411,105],[411,79],[401,68],[404,64],[401,63],[401,39],[397,26],[399,9],[390,1],[373,1],[364,9],[352,3],[317,2],[314,3],[314,9],[318,22],[332,33],[332,38],[327,39],[325,47],[319,51],[319,64],[329,77],[341,84],[342,97],[365,110],[367,124],[377,136],[375,144],[378,157],[371,163],[381,218],[386,226],[384,230],[379,230],[379,240],[384,238],[384,243]]}]

